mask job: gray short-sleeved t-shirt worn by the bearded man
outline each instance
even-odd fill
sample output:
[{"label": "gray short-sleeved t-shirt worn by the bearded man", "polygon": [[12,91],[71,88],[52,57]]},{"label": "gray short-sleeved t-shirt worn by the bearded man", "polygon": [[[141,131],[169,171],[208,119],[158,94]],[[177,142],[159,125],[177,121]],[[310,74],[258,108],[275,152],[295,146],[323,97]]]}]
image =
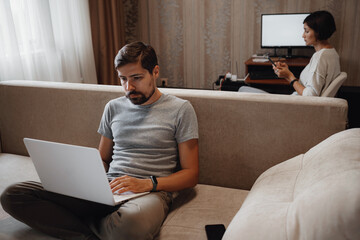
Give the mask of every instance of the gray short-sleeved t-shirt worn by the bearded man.
[{"label": "gray short-sleeved t-shirt worn by the bearded man", "polygon": [[141,106],[120,97],[106,104],[98,132],[114,142],[110,180],[163,177],[176,169],[178,144],[198,138],[198,124],[187,100],[162,94]]}]

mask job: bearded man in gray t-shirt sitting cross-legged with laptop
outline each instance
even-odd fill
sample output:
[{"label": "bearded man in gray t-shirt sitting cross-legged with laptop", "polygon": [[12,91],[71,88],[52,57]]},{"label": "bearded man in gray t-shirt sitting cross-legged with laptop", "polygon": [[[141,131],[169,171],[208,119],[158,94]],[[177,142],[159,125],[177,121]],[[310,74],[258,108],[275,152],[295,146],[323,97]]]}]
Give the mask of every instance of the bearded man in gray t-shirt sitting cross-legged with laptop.
[{"label": "bearded man in gray t-shirt sitting cross-legged with laptop", "polygon": [[151,193],[114,208],[46,192],[39,183],[19,183],[1,196],[15,218],[62,239],[152,239],[169,211],[171,193],[197,184],[196,115],[188,101],[157,89],[154,49],[128,44],[115,68],[126,97],[105,106],[100,155],[114,193]]}]

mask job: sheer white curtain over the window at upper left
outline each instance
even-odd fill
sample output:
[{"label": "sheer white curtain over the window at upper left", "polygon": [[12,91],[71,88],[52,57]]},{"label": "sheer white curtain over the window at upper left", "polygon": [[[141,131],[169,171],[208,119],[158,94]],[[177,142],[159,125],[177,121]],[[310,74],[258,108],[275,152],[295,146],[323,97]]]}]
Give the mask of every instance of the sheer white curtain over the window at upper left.
[{"label": "sheer white curtain over the window at upper left", "polygon": [[97,83],[87,0],[0,0],[0,81]]}]

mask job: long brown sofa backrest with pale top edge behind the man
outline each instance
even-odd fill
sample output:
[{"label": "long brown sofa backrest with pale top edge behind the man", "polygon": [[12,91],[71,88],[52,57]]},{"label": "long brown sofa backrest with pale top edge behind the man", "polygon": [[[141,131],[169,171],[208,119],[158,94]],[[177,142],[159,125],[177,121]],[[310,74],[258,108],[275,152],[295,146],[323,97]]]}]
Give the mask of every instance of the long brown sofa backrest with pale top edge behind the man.
[{"label": "long brown sofa backrest with pale top edge behind the man", "polygon": [[[187,99],[199,122],[200,183],[250,189],[266,169],[342,131],[343,99],[162,88]],[[27,155],[24,137],[97,147],[105,104],[122,87],[0,82],[2,151]],[[1,164],[1,163],[0,163]]]}]

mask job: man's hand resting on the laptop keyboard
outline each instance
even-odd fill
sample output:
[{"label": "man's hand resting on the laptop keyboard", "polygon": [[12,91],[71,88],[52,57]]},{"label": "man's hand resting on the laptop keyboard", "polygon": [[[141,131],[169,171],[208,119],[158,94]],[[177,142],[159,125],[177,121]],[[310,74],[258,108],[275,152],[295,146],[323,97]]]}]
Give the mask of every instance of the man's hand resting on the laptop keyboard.
[{"label": "man's hand resting on the laptop keyboard", "polygon": [[140,179],[130,176],[122,176],[115,178],[110,182],[111,191],[113,193],[121,194],[124,192],[149,192],[153,188],[151,179]]}]

